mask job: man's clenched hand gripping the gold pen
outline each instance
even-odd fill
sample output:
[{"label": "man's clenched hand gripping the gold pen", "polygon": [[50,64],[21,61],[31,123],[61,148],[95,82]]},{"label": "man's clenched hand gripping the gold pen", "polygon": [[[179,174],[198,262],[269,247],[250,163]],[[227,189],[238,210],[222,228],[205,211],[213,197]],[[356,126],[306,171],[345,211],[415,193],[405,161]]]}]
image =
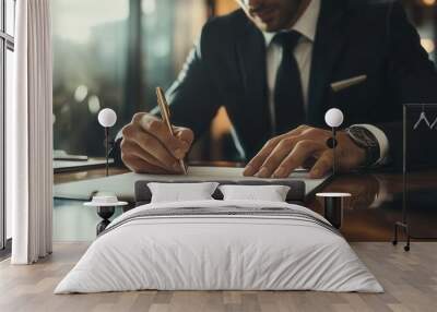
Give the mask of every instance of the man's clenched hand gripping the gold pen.
[{"label": "man's clenched hand gripping the gold pen", "polygon": [[167,125],[146,112],[135,113],[122,129],[121,159],[138,173],[182,173],[179,159],[191,147],[194,134],[190,129]]}]

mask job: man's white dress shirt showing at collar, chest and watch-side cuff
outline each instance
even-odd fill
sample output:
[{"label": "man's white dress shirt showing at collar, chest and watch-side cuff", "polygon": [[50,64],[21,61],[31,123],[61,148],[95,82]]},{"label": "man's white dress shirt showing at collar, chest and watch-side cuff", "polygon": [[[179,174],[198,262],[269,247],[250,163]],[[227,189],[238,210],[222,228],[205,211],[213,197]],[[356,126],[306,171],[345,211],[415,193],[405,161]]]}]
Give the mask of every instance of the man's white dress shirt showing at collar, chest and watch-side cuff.
[{"label": "man's white dress shirt showing at collar, chest and watch-side cuff", "polygon": [[[300,82],[305,107],[308,104],[309,77],[311,72],[312,46],[316,38],[317,22],[320,15],[321,0],[312,0],[304,14],[292,27],[298,32],[302,37],[293,52],[297,67],[300,71]],[[274,86],[276,74],[282,61],[282,47],[273,41],[275,33],[263,33],[267,46],[267,82],[269,91],[269,110],[272,124],[275,124],[274,109]],[[366,128],[378,140],[380,158],[377,164],[386,160],[389,153],[389,142],[387,135],[377,127],[371,124],[356,124]]]}]

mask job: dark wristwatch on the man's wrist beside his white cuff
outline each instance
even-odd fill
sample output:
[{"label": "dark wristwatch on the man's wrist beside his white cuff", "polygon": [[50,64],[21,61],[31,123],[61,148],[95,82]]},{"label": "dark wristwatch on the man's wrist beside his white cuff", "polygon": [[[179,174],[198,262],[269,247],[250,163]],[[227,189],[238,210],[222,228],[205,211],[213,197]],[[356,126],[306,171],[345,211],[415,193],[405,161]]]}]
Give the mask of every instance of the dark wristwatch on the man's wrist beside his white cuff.
[{"label": "dark wristwatch on the man's wrist beside his white cuff", "polygon": [[366,128],[353,125],[346,129],[349,137],[361,148],[366,151],[364,167],[371,167],[380,158],[380,147],[378,140]]}]

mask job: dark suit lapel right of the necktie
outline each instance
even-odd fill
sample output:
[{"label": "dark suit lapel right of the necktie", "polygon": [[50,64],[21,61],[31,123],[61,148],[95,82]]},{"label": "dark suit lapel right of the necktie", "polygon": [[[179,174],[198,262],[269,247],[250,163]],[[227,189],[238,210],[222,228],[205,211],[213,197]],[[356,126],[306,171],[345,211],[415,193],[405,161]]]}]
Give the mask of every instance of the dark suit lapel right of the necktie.
[{"label": "dark suit lapel right of the necktie", "polygon": [[310,124],[323,125],[323,95],[344,47],[345,1],[322,0],[312,50],[309,82],[308,115]]}]

